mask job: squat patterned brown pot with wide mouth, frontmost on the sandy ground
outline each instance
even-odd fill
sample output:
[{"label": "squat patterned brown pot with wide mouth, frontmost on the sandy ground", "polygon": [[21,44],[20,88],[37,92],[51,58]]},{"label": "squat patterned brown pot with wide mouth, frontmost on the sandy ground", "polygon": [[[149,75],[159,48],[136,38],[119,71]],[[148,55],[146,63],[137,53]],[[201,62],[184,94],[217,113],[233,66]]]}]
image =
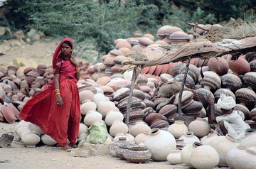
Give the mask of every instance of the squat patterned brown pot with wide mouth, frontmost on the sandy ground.
[{"label": "squat patterned brown pot with wide mouth, frontmost on the sandy ground", "polygon": [[131,146],[124,151],[123,156],[132,163],[146,163],[152,155],[146,147]]}]

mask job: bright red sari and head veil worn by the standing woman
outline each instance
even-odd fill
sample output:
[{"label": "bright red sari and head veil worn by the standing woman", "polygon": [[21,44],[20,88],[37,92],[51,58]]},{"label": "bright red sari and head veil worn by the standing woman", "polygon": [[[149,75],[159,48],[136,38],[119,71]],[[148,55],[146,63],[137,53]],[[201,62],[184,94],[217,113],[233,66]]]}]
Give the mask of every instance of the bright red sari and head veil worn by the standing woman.
[{"label": "bright red sari and head veil worn by the standing woman", "polygon": [[[63,39],[55,50],[53,61],[60,54],[60,47],[65,40],[72,43],[69,38]],[[64,103],[62,107],[56,104],[53,80],[42,92],[28,100],[19,114],[21,119],[40,126],[60,146],[67,145],[67,139],[70,143],[75,143],[78,138],[80,99],[75,73],[75,66],[70,60],[63,62],[60,69],[60,95]]]}]

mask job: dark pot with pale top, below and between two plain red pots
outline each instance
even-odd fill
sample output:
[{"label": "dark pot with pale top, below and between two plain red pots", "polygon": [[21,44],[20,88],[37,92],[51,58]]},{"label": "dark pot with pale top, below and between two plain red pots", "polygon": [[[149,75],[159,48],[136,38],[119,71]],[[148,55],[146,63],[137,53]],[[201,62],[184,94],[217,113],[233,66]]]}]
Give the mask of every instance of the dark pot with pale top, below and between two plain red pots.
[{"label": "dark pot with pale top, below and between two plain red pots", "polygon": [[237,75],[226,74],[221,77],[221,87],[228,88],[235,92],[242,87],[242,81]]}]

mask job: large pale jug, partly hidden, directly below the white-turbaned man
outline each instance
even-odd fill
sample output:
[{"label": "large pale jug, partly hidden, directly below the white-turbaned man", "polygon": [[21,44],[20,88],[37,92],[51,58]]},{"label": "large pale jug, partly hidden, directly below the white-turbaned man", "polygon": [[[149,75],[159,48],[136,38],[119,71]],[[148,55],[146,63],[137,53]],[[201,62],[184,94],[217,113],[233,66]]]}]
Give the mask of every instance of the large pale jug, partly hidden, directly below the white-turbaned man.
[{"label": "large pale jug, partly hidden, directly below the white-turbaned man", "polygon": [[227,155],[228,151],[237,147],[240,142],[235,140],[233,136],[227,134],[226,136],[208,138],[204,143],[208,146],[212,146],[218,152],[220,156],[218,166],[227,167],[228,165],[225,161],[225,156]]}]

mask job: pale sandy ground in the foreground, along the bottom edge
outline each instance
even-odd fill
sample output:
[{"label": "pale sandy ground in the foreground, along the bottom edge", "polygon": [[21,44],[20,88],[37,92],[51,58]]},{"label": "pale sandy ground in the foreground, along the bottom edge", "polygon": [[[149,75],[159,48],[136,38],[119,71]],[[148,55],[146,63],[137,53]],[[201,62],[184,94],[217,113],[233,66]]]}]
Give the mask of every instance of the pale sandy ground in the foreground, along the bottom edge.
[{"label": "pale sandy ground in the foreground, along the bottom edge", "polygon": [[14,124],[0,122],[0,137],[3,133],[14,136],[14,141],[9,148],[0,148],[0,168],[187,168],[185,165],[171,165],[167,161],[156,162],[150,160],[148,163],[135,164],[113,156],[73,157],[70,156],[70,153],[60,151],[59,147],[53,146],[26,148],[18,135],[14,133],[17,124],[18,122]]}]

